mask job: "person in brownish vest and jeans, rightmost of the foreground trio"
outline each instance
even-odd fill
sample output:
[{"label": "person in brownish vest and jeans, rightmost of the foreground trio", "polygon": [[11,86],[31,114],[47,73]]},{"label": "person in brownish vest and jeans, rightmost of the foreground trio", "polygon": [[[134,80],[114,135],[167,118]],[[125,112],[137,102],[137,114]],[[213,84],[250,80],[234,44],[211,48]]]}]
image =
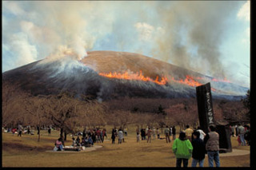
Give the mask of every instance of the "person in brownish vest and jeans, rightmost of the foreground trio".
[{"label": "person in brownish vest and jeans, rightmost of the foreground trio", "polygon": [[210,125],[208,129],[209,132],[204,138],[204,143],[206,144],[209,167],[214,167],[214,162],[216,164],[216,167],[220,167],[218,144],[219,135],[218,132],[215,132],[216,128],[214,125]]}]

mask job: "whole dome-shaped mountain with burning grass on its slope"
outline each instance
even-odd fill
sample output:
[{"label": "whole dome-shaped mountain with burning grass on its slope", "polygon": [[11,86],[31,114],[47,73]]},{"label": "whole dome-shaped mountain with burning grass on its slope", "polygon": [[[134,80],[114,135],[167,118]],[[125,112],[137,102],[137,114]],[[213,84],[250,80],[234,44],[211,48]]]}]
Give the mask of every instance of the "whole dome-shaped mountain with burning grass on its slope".
[{"label": "whole dome-shaped mountain with burning grass on its slope", "polygon": [[[2,82],[34,95],[62,89],[98,100],[130,97],[195,97],[195,87],[210,82],[215,98],[240,99],[246,88],[138,53],[91,51],[81,61],[46,58],[2,73]],[[4,89],[3,89],[4,90]]]}]

